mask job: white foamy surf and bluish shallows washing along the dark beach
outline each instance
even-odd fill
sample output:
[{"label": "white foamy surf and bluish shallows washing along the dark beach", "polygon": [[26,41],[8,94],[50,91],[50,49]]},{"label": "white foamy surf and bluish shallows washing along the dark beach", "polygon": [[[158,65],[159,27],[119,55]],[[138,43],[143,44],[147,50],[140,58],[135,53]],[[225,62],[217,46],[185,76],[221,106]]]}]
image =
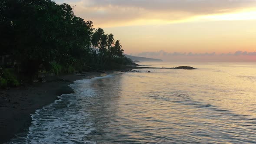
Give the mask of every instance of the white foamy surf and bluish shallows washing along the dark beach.
[{"label": "white foamy surf and bluish shallows washing along the dark beach", "polygon": [[[115,73],[117,75],[120,73]],[[90,102],[86,97],[93,96],[89,84],[96,79],[111,78],[113,75],[75,81],[69,85],[75,90],[73,94],[58,96],[59,100],[44,106],[31,115],[32,124],[26,137],[18,137],[11,144],[95,144],[88,140],[95,130],[94,122],[89,119],[86,106]]]}]

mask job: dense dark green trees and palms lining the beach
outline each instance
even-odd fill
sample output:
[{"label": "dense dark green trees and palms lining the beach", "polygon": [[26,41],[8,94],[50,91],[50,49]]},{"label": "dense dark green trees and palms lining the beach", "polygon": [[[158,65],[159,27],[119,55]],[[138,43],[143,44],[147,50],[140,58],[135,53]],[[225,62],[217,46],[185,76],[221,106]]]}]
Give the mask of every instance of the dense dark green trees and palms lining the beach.
[{"label": "dense dark green trees and palms lining the beach", "polygon": [[131,62],[119,40],[75,16],[66,3],[51,0],[0,0],[0,56],[11,55],[16,71],[74,71],[90,65],[108,68]]}]

